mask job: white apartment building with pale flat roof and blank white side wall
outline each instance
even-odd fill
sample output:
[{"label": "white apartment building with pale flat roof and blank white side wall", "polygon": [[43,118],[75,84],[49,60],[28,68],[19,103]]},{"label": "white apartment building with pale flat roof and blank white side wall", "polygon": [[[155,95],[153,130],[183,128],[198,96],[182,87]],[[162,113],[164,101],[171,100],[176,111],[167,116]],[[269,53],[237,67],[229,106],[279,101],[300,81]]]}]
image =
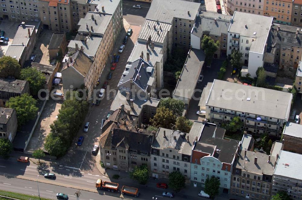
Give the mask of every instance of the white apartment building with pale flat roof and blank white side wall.
[{"label": "white apartment building with pale flat roof and blank white side wall", "polygon": [[241,63],[248,67],[251,77],[264,64],[266,43],[273,17],[235,11],[228,29],[227,56],[232,50],[242,53]]}]

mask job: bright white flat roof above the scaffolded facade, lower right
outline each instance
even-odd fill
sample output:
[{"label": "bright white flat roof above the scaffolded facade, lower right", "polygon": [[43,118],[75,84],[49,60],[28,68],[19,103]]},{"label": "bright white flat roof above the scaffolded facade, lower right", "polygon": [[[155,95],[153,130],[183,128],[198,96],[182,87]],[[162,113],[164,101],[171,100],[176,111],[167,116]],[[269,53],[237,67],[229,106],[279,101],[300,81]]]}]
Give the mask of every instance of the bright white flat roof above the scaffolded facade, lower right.
[{"label": "bright white flat roof above the scaffolded facade, lower right", "polygon": [[[288,164],[285,165],[285,164]],[[296,180],[302,179],[302,155],[281,151],[275,167],[274,175],[288,177]]]}]

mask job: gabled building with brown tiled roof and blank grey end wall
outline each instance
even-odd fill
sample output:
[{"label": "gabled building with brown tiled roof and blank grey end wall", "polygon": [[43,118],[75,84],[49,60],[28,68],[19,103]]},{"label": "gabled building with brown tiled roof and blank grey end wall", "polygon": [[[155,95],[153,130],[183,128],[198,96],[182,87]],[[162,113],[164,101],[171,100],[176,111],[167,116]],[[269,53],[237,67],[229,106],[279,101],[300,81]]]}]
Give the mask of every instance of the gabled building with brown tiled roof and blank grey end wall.
[{"label": "gabled building with brown tiled roof and blank grey end wall", "polygon": [[76,51],[69,58],[63,59],[62,82],[64,89],[81,88],[88,90],[88,96],[93,94],[95,86],[93,60],[82,50]]}]

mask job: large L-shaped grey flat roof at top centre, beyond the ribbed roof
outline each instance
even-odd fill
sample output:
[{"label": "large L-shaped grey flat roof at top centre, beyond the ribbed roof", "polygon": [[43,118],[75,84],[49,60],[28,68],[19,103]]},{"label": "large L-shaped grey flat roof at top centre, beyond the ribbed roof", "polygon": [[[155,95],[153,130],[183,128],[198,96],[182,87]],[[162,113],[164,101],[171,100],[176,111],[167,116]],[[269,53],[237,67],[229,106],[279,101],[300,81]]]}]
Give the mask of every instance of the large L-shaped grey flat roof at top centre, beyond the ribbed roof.
[{"label": "large L-shaped grey flat roof at top centre, beyond the ribbed roof", "polygon": [[159,20],[160,22],[166,23],[172,23],[174,17],[195,20],[199,6],[200,3],[182,0],[153,0],[146,19]]}]

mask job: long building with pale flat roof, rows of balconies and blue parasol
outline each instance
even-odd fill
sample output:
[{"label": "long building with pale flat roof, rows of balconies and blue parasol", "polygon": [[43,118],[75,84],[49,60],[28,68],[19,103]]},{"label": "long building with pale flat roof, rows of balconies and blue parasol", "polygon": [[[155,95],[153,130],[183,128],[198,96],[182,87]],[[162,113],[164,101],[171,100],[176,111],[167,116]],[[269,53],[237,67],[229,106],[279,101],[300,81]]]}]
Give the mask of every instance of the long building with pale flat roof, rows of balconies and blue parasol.
[{"label": "long building with pale flat roof, rows of balconies and blue parasol", "polygon": [[212,123],[227,123],[239,117],[246,131],[279,137],[289,119],[291,93],[216,79],[207,85],[206,91],[208,95],[202,96],[200,106]]}]

